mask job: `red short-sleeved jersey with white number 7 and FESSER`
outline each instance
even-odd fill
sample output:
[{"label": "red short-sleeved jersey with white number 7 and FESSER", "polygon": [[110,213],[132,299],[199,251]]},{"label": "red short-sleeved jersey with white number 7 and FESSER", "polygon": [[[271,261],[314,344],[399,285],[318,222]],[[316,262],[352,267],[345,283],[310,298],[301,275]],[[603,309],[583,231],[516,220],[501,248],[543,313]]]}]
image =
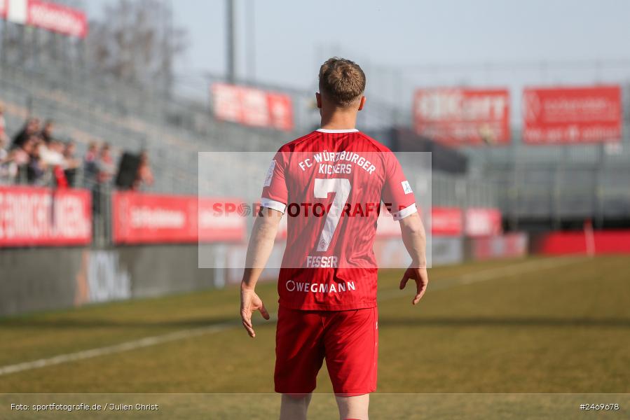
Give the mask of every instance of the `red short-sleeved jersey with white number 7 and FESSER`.
[{"label": "red short-sleeved jersey with white number 7 and FESSER", "polygon": [[290,309],[376,306],[381,201],[400,220],[416,199],[395,155],[358,130],[317,130],[282,146],[261,206],[287,216],[278,293]]}]

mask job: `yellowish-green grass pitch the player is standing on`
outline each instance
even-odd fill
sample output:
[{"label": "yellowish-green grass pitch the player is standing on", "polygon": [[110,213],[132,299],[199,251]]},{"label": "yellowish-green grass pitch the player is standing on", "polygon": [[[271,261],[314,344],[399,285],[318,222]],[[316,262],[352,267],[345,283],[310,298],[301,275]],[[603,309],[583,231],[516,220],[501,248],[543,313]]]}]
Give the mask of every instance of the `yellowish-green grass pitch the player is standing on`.
[{"label": "yellowish-green grass pitch the player is standing on", "polygon": [[[617,402],[620,410],[596,418],[624,418],[630,409],[629,272],[626,256],[439,267],[430,269],[427,294],[416,307],[411,285],[397,290],[402,270],[382,272],[371,418],[552,419],[566,410],[562,417],[586,419],[594,413],[580,411],[582,402]],[[275,283],[257,289],[275,312]],[[0,418],[274,418],[275,323],[259,321],[251,339],[238,316],[238,289],[230,287],[0,319],[0,370],[186,331],[155,345],[2,374],[0,393],[7,395],[0,395]],[[330,392],[324,367],[317,393]],[[8,395],[31,393],[67,395]],[[146,393],[160,395],[129,395]],[[8,410],[11,402],[63,400],[157,402],[161,409],[110,417]],[[336,418],[331,395],[315,395],[312,414]]]}]

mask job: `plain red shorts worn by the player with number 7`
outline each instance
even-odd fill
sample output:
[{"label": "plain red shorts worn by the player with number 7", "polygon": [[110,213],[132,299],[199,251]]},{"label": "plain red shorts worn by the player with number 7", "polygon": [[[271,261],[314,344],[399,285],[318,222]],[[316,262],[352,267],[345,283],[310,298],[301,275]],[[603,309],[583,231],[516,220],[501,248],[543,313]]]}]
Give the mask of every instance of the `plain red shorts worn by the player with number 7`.
[{"label": "plain red shorts worn by the player with number 7", "polygon": [[324,358],[336,394],[376,391],[376,307],[349,311],[300,311],[280,307],[275,334],[275,391],[313,392]]}]

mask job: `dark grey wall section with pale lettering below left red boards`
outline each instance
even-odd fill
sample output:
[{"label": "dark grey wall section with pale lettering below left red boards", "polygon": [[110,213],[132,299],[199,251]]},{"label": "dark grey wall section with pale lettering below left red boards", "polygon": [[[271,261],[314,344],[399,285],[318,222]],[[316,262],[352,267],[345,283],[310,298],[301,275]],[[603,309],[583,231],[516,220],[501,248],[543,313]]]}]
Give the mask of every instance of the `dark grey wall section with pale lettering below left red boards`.
[{"label": "dark grey wall section with pale lettering below left red boards", "polygon": [[0,315],[181,293],[214,286],[197,245],[0,251]]}]

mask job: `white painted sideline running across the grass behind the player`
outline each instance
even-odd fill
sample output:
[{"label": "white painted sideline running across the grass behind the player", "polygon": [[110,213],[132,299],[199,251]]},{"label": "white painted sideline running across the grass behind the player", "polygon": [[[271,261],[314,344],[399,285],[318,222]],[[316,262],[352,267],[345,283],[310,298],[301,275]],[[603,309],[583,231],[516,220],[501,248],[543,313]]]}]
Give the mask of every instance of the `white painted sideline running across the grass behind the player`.
[{"label": "white painted sideline running across the grass behind the player", "polygon": [[[444,279],[437,282],[437,285],[430,286],[430,290],[443,290],[454,286],[460,286],[464,284],[477,283],[479,281],[486,281],[492,279],[498,279],[503,276],[513,276],[515,274],[523,274],[526,272],[537,271],[540,269],[548,269],[554,267],[561,267],[562,265],[573,264],[574,262],[581,261],[579,258],[550,258],[549,260],[536,260],[521,262],[519,264],[508,265],[507,267],[496,267],[491,269],[481,270],[479,272],[464,274],[463,276],[453,277],[452,279]],[[379,302],[383,300],[390,300],[400,297],[407,297],[402,295],[402,290],[390,290],[388,293],[381,293]],[[276,314],[271,315],[271,320],[275,320]],[[74,362],[76,360],[85,360],[87,358],[93,358],[98,356],[105,356],[107,354],[122,353],[123,351],[130,351],[135,349],[142,349],[144,347],[156,346],[157,344],[163,344],[167,342],[174,342],[179,339],[186,339],[191,337],[198,337],[200,335],[214,334],[228,330],[237,325],[240,325],[238,321],[230,321],[219,323],[216,325],[210,325],[202,328],[191,328],[188,330],[181,330],[176,332],[169,332],[164,335],[156,335],[153,337],[144,337],[141,339],[132,340],[129,342],[123,342],[120,344],[114,344],[112,346],[98,347],[97,349],[76,351],[75,353],[60,354],[59,356],[53,356],[50,358],[42,358],[39,360],[32,360],[30,362],[17,363],[15,365],[7,365],[0,367],[0,376],[5,374],[23,372],[25,370],[38,369],[39,367],[47,367],[53,365],[60,365],[62,363]]]}]

